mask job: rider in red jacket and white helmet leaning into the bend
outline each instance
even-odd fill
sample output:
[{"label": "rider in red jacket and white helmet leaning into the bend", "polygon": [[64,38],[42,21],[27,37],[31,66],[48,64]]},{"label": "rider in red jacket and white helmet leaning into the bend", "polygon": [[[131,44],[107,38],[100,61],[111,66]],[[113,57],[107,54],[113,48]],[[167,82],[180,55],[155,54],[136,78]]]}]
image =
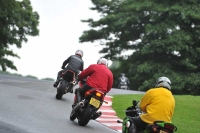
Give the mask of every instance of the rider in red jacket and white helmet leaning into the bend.
[{"label": "rider in red jacket and white helmet leaning into the bend", "polygon": [[97,64],[92,64],[83,70],[78,78],[80,81],[86,79],[86,84],[82,88],[76,89],[75,104],[82,100],[83,94],[87,90],[95,88],[106,94],[111,90],[113,85],[113,74],[108,69],[108,60],[105,58],[100,58]]}]

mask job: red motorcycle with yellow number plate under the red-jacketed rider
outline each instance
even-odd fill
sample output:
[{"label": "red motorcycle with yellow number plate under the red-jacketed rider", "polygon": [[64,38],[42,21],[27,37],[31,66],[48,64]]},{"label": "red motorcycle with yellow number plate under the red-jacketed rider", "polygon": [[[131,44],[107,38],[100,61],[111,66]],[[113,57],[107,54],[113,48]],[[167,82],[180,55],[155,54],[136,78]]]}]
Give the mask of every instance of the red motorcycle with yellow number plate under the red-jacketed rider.
[{"label": "red motorcycle with yellow number plate under the red-jacketed rider", "polygon": [[[79,81],[79,86],[84,83]],[[84,98],[81,102],[72,106],[72,111],[70,113],[70,120],[74,121],[78,119],[78,124],[80,126],[86,126],[90,120],[95,120],[102,115],[101,111],[98,109],[101,107],[104,101],[105,93],[94,88],[88,90],[84,94]],[[76,97],[74,97],[76,99]]]}]

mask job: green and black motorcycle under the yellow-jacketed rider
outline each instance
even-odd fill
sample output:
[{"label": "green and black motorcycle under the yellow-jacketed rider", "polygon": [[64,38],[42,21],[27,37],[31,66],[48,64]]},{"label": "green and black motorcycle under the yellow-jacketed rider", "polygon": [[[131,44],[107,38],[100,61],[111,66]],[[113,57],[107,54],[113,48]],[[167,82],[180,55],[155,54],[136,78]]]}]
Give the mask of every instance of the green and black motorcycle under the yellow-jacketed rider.
[{"label": "green and black motorcycle under the yellow-jacketed rider", "polygon": [[[132,126],[129,117],[136,117],[144,113],[139,109],[138,103],[139,101],[133,100],[133,106],[125,110],[126,117],[123,121],[117,120],[118,123],[122,123],[122,133],[132,133],[135,131],[135,127]],[[177,127],[174,124],[165,121],[155,121],[153,124],[147,125],[144,131],[137,133],[174,133],[175,131],[177,131]]]}]

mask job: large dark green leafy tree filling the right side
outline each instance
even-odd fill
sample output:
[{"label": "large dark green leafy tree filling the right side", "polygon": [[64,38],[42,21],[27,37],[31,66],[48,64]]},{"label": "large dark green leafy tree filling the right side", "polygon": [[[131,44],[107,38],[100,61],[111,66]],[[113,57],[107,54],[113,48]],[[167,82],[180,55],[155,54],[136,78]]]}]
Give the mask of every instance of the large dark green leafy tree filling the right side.
[{"label": "large dark green leafy tree filling the right side", "polygon": [[[89,23],[80,42],[100,41],[105,57],[121,62],[132,86],[154,87],[167,76],[174,93],[192,93],[200,85],[200,1],[92,0],[101,14]],[[133,54],[120,56],[127,50]],[[124,67],[126,64],[126,67]],[[128,76],[128,75],[127,75]]]}]

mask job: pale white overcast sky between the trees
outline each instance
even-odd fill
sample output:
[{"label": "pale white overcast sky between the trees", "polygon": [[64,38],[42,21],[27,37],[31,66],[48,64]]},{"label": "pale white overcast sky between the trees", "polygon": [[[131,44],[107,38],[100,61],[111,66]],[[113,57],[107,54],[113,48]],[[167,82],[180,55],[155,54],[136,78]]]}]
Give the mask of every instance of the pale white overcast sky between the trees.
[{"label": "pale white overcast sky between the trees", "polygon": [[21,49],[13,48],[20,59],[11,58],[18,71],[10,72],[56,79],[63,61],[77,49],[84,51],[85,68],[97,62],[101,57],[98,42],[79,43],[83,31],[89,29],[80,20],[99,18],[89,9],[93,6],[91,0],[31,0],[31,5],[40,15],[40,34],[28,37]]}]

